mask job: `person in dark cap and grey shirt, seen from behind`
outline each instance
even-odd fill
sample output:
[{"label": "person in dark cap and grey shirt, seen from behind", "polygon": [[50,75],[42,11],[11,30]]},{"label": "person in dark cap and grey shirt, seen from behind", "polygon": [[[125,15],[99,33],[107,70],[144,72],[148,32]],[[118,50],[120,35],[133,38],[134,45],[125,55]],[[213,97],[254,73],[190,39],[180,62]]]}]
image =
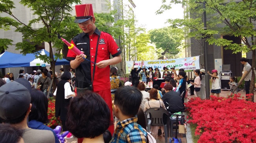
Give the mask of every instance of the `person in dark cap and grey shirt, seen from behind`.
[{"label": "person in dark cap and grey shirt, seen from behind", "polygon": [[26,79],[23,79],[21,83],[13,81],[0,87],[1,122],[22,129],[22,138],[25,143],[55,143],[54,134],[50,130],[34,130],[28,127],[27,119],[32,104],[27,88],[31,89],[31,86]]}]

